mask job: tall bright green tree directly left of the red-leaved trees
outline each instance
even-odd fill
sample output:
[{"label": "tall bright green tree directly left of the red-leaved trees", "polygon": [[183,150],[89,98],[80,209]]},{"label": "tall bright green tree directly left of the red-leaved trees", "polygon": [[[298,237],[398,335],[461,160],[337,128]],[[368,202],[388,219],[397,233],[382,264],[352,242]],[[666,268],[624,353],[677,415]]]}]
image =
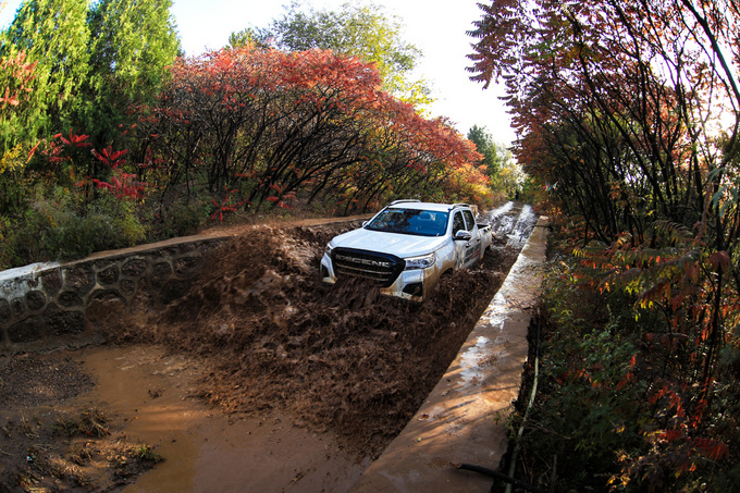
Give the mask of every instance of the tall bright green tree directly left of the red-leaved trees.
[{"label": "tall bright green tree directly left of the red-leaved trees", "polygon": [[86,127],[96,146],[114,140],[132,104],[157,96],[180,52],[171,0],[101,0],[89,15],[90,100]]}]

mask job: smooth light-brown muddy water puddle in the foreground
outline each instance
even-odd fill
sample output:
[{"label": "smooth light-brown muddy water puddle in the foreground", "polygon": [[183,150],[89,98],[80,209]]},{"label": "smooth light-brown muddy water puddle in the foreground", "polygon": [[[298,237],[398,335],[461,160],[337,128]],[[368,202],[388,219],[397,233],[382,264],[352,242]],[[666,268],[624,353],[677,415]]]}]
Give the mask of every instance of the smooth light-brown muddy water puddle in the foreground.
[{"label": "smooth light-brown muddy water puddle in the foreground", "polygon": [[288,416],[239,418],[207,407],[192,397],[202,366],[160,347],[98,347],[77,358],[97,381],[81,398],[101,403],[130,440],[164,458],[124,492],[342,492],[370,463]]}]

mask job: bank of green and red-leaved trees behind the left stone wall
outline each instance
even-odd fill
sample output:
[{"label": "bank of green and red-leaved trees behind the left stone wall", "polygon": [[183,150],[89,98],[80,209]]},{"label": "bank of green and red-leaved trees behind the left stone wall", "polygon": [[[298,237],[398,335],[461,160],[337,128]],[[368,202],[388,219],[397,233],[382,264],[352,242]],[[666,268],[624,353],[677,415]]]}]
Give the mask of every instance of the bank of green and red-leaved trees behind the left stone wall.
[{"label": "bank of green and red-leaved trees behind the left stone wall", "polygon": [[494,195],[425,116],[420,51],[377,7],[297,3],[185,56],[170,0],[27,0],[0,34],[0,269],[222,222]]}]

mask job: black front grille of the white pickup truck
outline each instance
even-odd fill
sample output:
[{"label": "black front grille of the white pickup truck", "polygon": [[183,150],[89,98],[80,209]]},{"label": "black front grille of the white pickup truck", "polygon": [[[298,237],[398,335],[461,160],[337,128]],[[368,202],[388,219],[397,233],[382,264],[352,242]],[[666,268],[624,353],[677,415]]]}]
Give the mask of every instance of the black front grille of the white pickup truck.
[{"label": "black front grille of the white pickup truck", "polygon": [[406,267],[406,261],[388,254],[334,248],[332,263],[337,278],[353,276],[375,281],[381,287],[388,287]]}]

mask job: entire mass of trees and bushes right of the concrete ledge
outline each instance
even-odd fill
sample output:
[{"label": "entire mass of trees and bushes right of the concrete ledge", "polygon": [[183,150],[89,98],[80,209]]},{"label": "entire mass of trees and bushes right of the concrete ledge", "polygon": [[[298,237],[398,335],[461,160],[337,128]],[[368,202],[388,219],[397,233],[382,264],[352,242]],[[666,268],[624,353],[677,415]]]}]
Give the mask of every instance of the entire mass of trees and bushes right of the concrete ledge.
[{"label": "entire mass of trees and bushes right of the concrete ledge", "polygon": [[505,82],[514,153],[554,230],[536,397],[510,422],[517,477],[737,491],[737,2],[481,9],[471,71]]}]

